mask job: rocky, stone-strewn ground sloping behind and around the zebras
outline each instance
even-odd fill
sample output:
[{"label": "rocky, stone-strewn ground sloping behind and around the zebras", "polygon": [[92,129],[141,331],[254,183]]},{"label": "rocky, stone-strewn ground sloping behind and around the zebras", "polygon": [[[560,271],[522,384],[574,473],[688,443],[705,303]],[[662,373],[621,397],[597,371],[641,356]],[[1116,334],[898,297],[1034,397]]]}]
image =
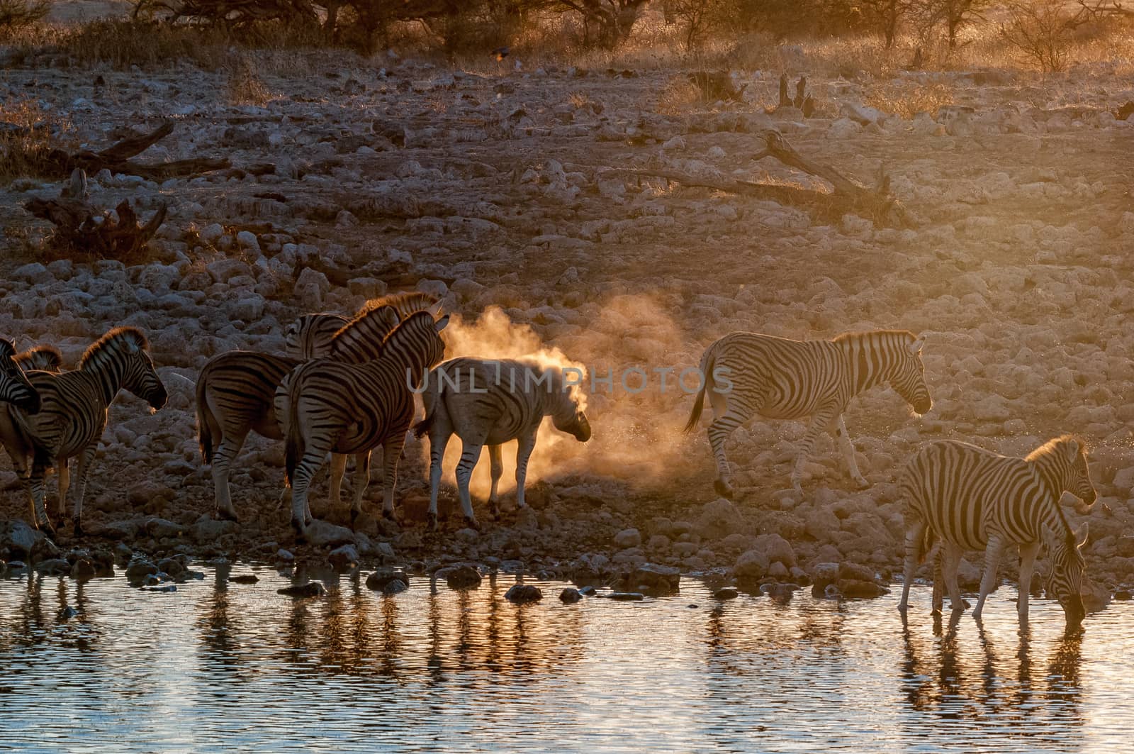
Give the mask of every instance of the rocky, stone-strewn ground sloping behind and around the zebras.
[{"label": "rocky, stone-strewn ground sloping behind and around the zebras", "polygon": [[[172,119],[176,131],[145,161],[273,166],[163,182],[92,176],[99,204],[129,199],[144,217],[170,206],[153,261],[132,267],[37,261],[46,228],[22,206],[56,196],[60,184],[18,178],[0,193],[0,332],[20,346],[54,343],[71,366],[107,329],[143,327],[170,393],[155,414],[132,396],[115,404],[87,492],[92,534],[77,543],[62,534],[65,551],[119,541],[154,556],[271,560],[287,548],[322,560],[349,541],[364,561],[518,560],[591,580],[644,562],[753,584],[805,584],[818,571],[870,593],[866,583],[889,583],[900,563],[894,480],[921,443],[956,437],[1023,454],[1076,432],[1092,445],[1100,494],[1089,516],[1067,508],[1090,522],[1091,578],[1107,597],[1134,581],[1134,119],[1110,112],[1134,99],[1128,77],[1106,67],[1047,81],[904,74],[897,91],[940,84],[964,106],[904,119],[847,109],[862,101],[860,81],[809,72],[822,117],[804,119],[794,109],[765,114],[779,72],[736,72],[741,101],[675,112],[659,104],[675,70],[466,73],[297,53],[254,66],[270,99],[239,104],[244,90],[225,72],[60,64],[48,55],[7,70],[0,99],[35,98],[95,149]],[[816,185],[750,159],[767,127],[866,183],[885,166],[909,227],[615,170]],[[441,294],[460,315],[450,354],[542,345],[600,375],[695,366],[736,329],[806,338],[908,328],[928,338],[934,407],[915,419],[889,389],[858,399],[847,426],[873,486],[856,491],[821,441],[802,501],[784,488],[805,425],[756,421],[729,445],[730,503],[712,494],[703,432],[680,434],[692,396],[662,393],[657,378],[635,395],[600,384],[587,405],[594,439],[545,445],[532,508],[492,521],[479,504],[479,533],[456,514],[426,530],[416,443],[401,467],[400,523],[366,516],[357,536],[321,526],[321,546],[294,547],[276,502],[282,452],[263,441],[249,441],[234,475],[242,521],[212,521],[196,370],[229,349],[279,352],[301,312],[349,312],[406,287]],[[0,471],[0,518],[26,517],[16,475]],[[370,511],[380,487],[370,487]],[[451,492],[445,503],[459,510]],[[7,527],[0,558],[26,558],[27,533]]]}]

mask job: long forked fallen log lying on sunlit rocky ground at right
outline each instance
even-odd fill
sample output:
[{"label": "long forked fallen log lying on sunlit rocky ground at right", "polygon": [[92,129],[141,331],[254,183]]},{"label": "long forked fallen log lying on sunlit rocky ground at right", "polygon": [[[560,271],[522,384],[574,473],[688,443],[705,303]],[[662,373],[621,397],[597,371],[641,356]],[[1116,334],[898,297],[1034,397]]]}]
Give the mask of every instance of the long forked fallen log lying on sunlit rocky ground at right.
[{"label": "long forked fallen log lying on sunlit rocky ground at right", "polygon": [[829,165],[803,157],[775,128],[762,132],[761,136],[764,140],[764,149],[753,154],[752,160],[761,160],[765,157],[775,158],[788,167],[826,181],[830,184],[831,191],[822,192],[782,184],[736,181],[723,176],[719,178],[693,176],[661,168],[615,169],[623,174],[665,178],[686,186],[701,186],[725,193],[745,194],[779,203],[803,206],[821,210],[823,213],[854,212],[873,220],[874,225],[904,226],[908,224],[909,218],[905,209],[890,193],[890,179],[885,170],[879,170],[875,187],[868,188]]}]

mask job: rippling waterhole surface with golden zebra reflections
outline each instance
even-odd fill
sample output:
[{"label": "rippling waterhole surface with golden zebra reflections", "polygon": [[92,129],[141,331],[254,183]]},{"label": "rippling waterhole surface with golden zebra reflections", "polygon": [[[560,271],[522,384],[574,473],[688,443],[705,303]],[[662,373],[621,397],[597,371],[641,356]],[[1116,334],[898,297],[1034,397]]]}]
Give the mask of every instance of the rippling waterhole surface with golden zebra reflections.
[{"label": "rippling waterhole surface with golden zebra reflections", "polygon": [[564,605],[535,583],[543,602],[516,606],[511,577],[395,597],[344,577],[293,600],[251,570],[170,594],[0,581],[0,749],[1085,751],[1126,746],[1134,720],[1128,603],[1064,637],[1036,602],[1022,635],[1001,588],[983,628],[942,636],[924,588],[904,630],[895,595],[719,603],[685,580]]}]

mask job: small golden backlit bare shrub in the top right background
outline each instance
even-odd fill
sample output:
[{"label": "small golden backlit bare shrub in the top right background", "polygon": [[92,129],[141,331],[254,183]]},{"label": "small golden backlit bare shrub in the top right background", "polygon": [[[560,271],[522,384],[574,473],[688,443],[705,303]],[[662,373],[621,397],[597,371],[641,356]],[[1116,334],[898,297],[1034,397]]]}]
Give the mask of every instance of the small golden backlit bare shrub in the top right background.
[{"label": "small golden backlit bare shrub in the top right background", "polygon": [[[1044,73],[1067,66],[1072,33],[1093,20],[1099,6],[1081,2],[1068,7],[1063,0],[1012,0],[1008,20],[1000,25],[1000,36],[1035,60]],[[1117,6],[1117,3],[1109,7]],[[1120,10],[1120,6],[1119,6]]]}]

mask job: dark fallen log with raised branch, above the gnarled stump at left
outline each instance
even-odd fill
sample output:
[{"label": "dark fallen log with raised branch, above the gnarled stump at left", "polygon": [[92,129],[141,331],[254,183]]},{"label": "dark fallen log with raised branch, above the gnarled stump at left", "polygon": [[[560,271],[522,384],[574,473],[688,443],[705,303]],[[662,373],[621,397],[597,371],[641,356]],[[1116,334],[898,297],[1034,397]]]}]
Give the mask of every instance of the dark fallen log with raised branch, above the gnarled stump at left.
[{"label": "dark fallen log with raised branch, above the gnarled stump at left", "polygon": [[69,153],[61,149],[49,149],[23,156],[24,164],[36,175],[49,178],[65,178],[76,169],[93,175],[107,169],[113,174],[136,175],[143,178],[172,178],[223,170],[231,167],[227,159],[194,158],[171,162],[133,162],[130,158],[158,143],[174,132],[174,124],[166,123],[156,129],[138,136],[130,136],[100,152],[82,150]]}]

